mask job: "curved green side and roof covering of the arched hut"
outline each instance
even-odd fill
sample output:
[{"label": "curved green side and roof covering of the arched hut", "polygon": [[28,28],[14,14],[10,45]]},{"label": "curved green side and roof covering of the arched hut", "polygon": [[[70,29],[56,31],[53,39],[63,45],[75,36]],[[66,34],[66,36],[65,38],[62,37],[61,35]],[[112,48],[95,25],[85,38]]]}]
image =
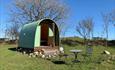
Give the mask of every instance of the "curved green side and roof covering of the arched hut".
[{"label": "curved green side and roof covering of the arched hut", "polygon": [[34,37],[37,27],[37,21],[29,24],[25,24],[19,35],[19,46],[25,48],[34,47]]}]

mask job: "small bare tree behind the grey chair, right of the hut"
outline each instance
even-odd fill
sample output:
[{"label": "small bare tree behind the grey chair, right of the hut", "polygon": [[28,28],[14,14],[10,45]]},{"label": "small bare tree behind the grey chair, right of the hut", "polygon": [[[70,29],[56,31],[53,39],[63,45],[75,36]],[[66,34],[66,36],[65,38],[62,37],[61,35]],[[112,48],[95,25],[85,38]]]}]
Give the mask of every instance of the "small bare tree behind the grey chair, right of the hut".
[{"label": "small bare tree behind the grey chair, right of the hut", "polygon": [[81,20],[76,25],[76,31],[84,38],[84,43],[86,45],[87,40],[93,37],[94,23],[92,18]]}]

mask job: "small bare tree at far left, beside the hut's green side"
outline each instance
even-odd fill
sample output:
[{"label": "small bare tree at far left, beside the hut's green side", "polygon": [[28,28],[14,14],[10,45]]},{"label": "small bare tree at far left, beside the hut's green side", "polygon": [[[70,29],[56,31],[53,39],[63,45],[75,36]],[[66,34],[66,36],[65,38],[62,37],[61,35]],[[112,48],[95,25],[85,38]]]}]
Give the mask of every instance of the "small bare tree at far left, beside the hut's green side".
[{"label": "small bare tree at far left, beside the hut's green side", "polygon": [[14,16],[11,18],[10,22],[12,24],[6,25],[5,37],[10,38],[10,40],[18,40],[19,36],[19,23],[16,21],[17,17]]}]

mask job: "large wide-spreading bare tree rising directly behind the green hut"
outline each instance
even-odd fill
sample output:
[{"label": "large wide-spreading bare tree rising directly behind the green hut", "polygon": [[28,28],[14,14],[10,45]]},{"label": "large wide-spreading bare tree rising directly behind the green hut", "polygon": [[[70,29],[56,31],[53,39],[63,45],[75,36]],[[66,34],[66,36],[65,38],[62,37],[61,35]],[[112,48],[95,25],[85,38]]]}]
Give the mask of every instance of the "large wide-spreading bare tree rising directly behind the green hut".
[{"label": "large wide-spreading bare tree rising directly behind the green hut", "polygon": [[[10,25],[14,29],[16,25],[19,26],[17,28],[19,29],[24,24],[45,18],[60,22],[67,16],[67,8],[59,0],[14,0],[9,9],[10,20],[13,23],[13,25]],[[58,23],[57,25],[61,27],[63,24]],[[18,32],[17,29],[16,31]]]}]

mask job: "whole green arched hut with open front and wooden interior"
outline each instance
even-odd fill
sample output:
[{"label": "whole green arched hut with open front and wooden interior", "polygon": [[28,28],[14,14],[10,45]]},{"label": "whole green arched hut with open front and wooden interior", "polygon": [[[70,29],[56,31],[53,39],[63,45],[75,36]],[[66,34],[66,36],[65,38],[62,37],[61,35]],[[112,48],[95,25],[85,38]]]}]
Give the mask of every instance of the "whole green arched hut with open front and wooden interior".
[{"label": "whole green arched hut with open front and wooden interior", "polygon": [[35,51],[41,48],[58,49],[58,47],[59,30],[54,21],[43,19],[22,27],[18,48]]}]

